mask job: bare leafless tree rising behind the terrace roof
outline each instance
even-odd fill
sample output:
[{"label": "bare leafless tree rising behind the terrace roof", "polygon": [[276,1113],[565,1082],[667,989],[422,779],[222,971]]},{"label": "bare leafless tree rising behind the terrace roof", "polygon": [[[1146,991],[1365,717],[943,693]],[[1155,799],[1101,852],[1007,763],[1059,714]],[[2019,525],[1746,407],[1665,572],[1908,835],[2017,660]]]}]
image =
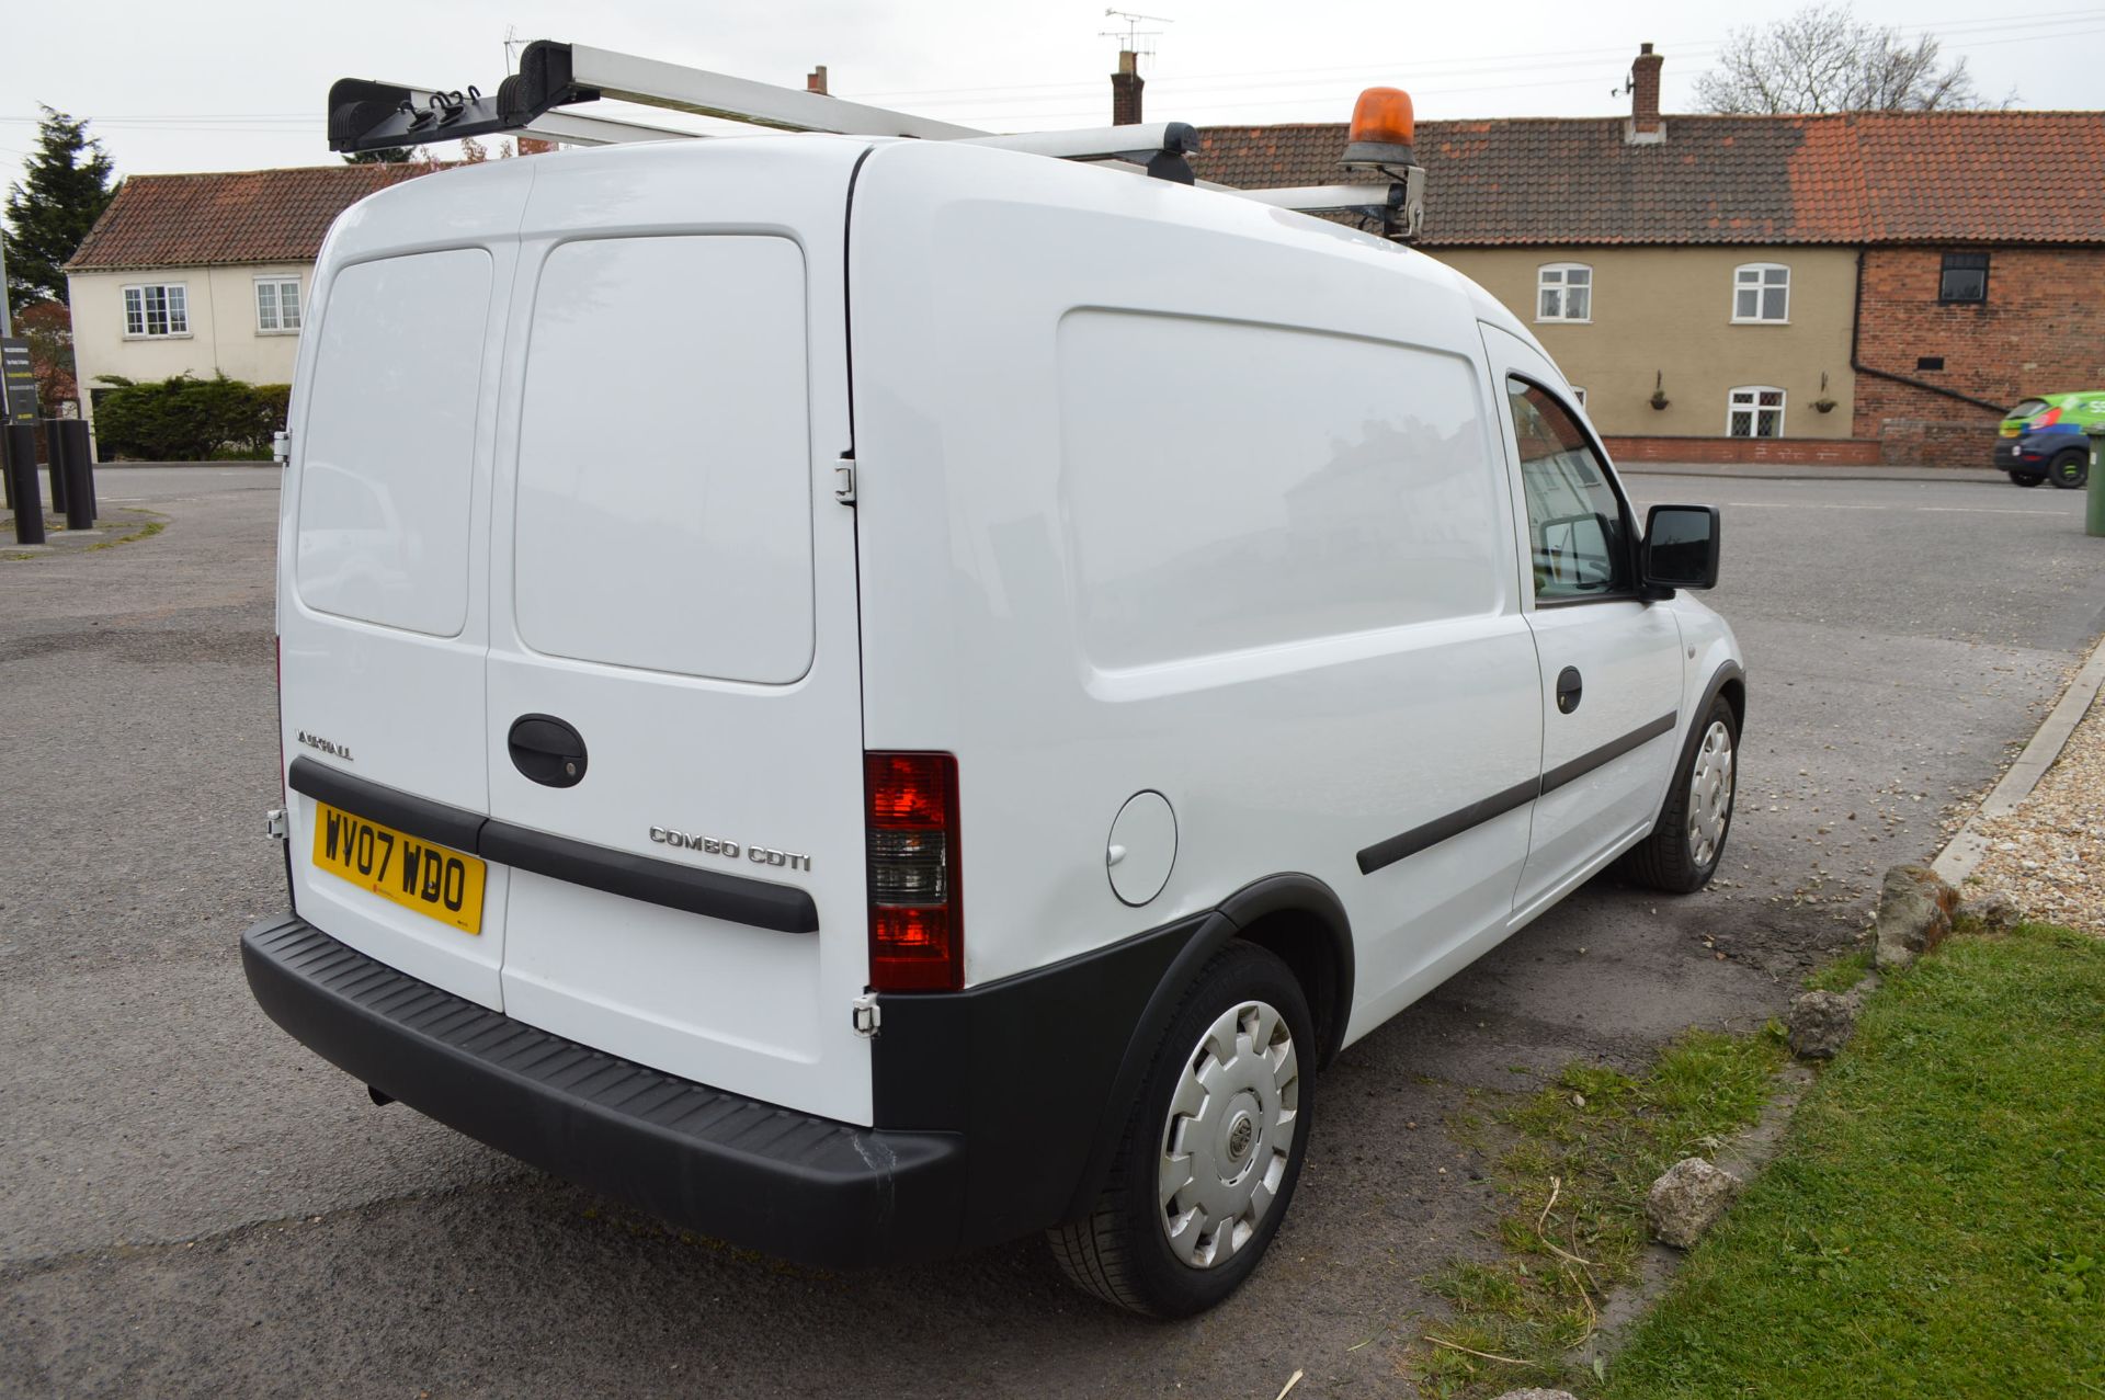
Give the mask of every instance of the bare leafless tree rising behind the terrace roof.
[{"label": "bare leafless tree rising behind the terrace roof", "polygon": [[[1762,29],[1735,29],[1697,78],[1705,112],[1943,112],[1981,107],[1966,59],[1939,61],[1934,36],[1907,42],[1846,4],[1808,4]],[[2012,95],[2014,99],[2014,95]]]}]

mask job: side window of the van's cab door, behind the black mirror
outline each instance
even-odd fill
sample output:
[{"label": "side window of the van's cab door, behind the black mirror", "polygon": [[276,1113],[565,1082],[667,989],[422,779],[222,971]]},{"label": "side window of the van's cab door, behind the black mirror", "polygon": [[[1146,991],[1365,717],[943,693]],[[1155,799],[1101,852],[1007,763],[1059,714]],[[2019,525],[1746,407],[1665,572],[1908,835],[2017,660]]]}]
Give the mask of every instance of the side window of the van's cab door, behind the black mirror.
[{"label": "side window of the van's cab door, behind the black mirror", "polygon": [[1570,411],[1526,379],[1505,381],[1528,497],[1535,598],[1600,598],[1631,587],[1623,501]]}]

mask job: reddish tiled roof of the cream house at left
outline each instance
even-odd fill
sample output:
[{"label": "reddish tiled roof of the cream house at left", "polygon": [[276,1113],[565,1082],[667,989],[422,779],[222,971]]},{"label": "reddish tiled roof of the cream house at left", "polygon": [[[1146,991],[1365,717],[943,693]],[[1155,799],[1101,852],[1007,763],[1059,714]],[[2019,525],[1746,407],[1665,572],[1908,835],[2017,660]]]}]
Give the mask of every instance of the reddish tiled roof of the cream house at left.
[{"label": "reddish tiled roof of the cream house at left", "polygon": [[95,221],[67,272],[312,263],[345,208],[425,164],[295,166],[208,175],[133,175]]}]

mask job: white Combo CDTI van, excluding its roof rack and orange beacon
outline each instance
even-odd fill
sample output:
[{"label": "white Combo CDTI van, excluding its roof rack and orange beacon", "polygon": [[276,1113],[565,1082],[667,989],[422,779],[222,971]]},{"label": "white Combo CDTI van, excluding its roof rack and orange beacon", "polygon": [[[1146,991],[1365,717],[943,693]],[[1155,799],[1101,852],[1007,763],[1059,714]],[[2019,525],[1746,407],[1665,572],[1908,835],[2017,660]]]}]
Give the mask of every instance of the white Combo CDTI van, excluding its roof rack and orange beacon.
[{"label": "white Combo CDTI van, excluding its roof rack and orange beacon", "polygon": [[293,1036],[825,1265],[1175,1316],[1318,1069],[1716,869],[1718,516],[1440,263],[951,141],[486,162],[337,223],[278,573]]}]

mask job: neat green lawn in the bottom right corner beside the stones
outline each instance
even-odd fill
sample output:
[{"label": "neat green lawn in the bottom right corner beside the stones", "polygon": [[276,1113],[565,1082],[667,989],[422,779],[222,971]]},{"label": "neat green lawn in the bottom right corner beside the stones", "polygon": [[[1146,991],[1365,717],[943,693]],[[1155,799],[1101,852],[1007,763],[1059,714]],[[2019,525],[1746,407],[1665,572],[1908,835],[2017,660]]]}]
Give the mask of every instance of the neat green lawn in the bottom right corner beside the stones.
[{"label": "neat green lawn in the bottom right corner beside the stones", "polygon": [[1890,977],[1604,1400],[2105,1396],[2105,943]]}]

